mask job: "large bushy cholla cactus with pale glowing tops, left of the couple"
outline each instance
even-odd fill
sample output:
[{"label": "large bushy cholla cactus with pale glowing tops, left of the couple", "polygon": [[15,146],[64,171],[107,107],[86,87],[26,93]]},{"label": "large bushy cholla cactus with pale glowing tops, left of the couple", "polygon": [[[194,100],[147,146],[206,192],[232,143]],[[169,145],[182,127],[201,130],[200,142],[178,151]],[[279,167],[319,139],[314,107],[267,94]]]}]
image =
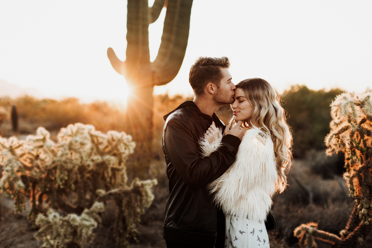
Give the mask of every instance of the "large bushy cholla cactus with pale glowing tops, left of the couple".
[{"label": "large bushy cholla cactus with pale glowing tops, left of the couple", "polygon": [[81,123],[62,128],[57,143],[42,127],[24,141],[0,138],[0,189],[14,197],[16,212],[25,208],[25,198],[30,197],[32,223],[47,207],[81,214],[96,201],[113,199],[119,208],[119,246],[135,233],[135,223],[151,204],[151,187],[156,184],[156,180],[138,179],[128,183],[125,161],[134,147],[124,132],[104,134]]}]

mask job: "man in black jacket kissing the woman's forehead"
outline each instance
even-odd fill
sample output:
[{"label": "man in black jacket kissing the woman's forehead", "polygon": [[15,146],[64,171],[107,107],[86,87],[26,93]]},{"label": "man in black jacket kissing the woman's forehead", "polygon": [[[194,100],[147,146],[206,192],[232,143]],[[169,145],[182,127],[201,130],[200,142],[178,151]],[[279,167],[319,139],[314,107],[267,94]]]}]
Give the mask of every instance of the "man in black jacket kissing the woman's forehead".
[{"label": "man in black jacket kissing the woman's forehead", "polygon": [[209,157],[201,157],[199,140],[213,122],[225,128],[214,112],[234,102],[229,66],[227,57],[198,58],[189,74],[194,100],[164,116],[162,146],[170,191],[164,220],[168,248],[224,247],[225,216],[212,202],[206,185],[235,161],[243,137],[241,123],[226,127],[222,146]]}]

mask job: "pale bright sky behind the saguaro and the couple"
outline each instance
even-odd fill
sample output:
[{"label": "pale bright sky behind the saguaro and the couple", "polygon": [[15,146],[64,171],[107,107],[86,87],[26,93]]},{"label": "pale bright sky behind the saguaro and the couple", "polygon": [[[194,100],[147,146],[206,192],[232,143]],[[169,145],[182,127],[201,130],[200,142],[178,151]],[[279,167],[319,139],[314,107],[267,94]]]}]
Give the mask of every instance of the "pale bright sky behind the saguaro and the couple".
[{"label": "pale bright sky behind the saguaro and the couple", "polygon": [[[0,1],[0,79],[46,97],[123,100],[124,77],[106,51],[125,60],[126,3]],[[279,93],[292,84],[363,92],[372,87],[371,9],[370,0],[194,0],[179,74],[154,93],[192,94],[190,65],[222,55],[235,84],[261,77]],[[164,16],[149,28],[151,60]]]}]

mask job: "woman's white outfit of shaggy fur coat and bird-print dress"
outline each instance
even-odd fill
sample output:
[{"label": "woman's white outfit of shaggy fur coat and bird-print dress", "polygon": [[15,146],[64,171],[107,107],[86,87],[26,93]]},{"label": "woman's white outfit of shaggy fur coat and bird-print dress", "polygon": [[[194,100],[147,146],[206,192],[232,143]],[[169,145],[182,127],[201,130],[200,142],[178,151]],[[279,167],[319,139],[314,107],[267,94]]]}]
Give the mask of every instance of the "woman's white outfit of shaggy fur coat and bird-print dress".
[{"label": "woman's white outfit of shaggy fur coat and bird-print dress", "polygon": [[[201,141],[202,156],[218,149],[221,135],[212,144]],[[277,180],[274,145],[269,133],[256,127],[248,129],[234,164],[208,185],[225,213],[226,248],[270,247],[264,221]]]}]

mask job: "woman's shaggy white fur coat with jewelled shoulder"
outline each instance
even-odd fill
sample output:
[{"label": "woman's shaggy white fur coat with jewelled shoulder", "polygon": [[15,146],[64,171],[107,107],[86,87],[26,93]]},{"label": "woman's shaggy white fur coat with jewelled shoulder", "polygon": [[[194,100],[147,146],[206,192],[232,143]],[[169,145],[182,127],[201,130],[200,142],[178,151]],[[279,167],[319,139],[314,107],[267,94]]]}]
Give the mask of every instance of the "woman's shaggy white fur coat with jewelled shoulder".
[{"label": "woman's shaggy white fur coat with jewelled shoulder", "polygon": [[[202,156],[207,157],[221,145],[222,131],[212,144],[202,139]],[[225,214],[247,216],[263,221],[272,205],[278,180],[274,145],[270,135],[251,128],[244,134],[236,160],[228,170],[208,185],[214,200]]]}]

